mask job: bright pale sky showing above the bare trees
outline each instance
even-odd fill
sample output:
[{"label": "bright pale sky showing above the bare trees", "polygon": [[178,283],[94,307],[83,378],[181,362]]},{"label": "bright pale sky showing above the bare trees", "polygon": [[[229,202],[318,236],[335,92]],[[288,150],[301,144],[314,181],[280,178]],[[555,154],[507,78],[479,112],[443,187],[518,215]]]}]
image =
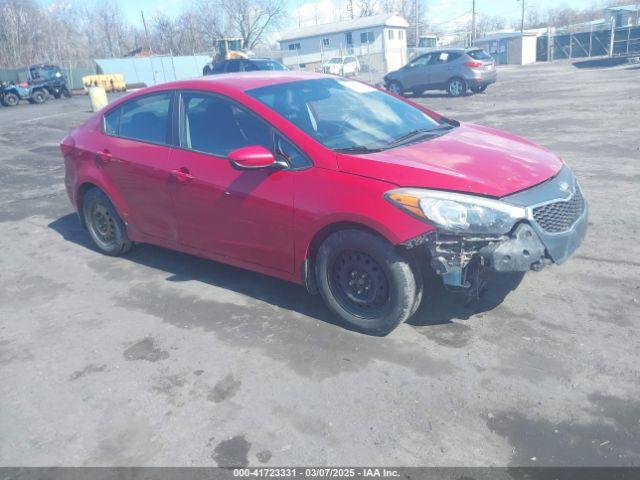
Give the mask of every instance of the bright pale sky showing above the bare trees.
[{"label": "bright pale sky showing above the bare trees", "polygon": [[[52,3],[55,0],[41,0]],[[100,0],[89,0],[100,1]],[[178,15],[189,3],[189,0],[118,0],[122,11],[131,23],[141,25],[140,11],[150,19],[154,13],[161,12],[169,16]],[[291,12],[289,25],[283,30],[316,23],[327,23],[336,20],[336,16],[344,11],[346,0],[286,0]],[[476,0],[476,12],[485,15],[500,15],[507,18],[507,26],[520,18],[522,0]],[[524,0],[525,8],[574,7],[584,8],[593,0]],[[632,3],[633,0],[629,0]],[[427,17],[431,25],[438,25],[442,30],[464,28],[470,18],[472,0],[421,0],[427,8]],[[299,12],[299,13],[298,13]]]}]

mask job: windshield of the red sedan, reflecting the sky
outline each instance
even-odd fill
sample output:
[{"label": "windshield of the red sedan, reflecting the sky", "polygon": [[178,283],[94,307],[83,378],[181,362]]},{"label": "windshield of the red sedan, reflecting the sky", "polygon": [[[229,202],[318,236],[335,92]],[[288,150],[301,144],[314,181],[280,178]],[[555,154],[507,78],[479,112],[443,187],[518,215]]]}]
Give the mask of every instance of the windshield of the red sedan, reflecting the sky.
[{"label": "windshield of the red sedan, reflecting the sky", "polygon": [[364,83],[321,78],[248,90],[332,150],[381,150],[444,131],[426,113]]}]

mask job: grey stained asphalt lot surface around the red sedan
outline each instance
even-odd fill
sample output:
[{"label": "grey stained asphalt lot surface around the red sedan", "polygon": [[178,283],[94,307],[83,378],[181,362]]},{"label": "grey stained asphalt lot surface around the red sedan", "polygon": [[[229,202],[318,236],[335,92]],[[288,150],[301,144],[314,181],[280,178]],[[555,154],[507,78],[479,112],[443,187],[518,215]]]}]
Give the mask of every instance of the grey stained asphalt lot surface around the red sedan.
[{"label": "grey stained asphalt lot surface around the red sedan", "polygon": [[149,245],[95,251],[58,142],[89,100],[0,107],[0,464],[640,465],[640,70],[505,67],[417,101],[526,136],[590,202],[576,254],[387,337]]}]

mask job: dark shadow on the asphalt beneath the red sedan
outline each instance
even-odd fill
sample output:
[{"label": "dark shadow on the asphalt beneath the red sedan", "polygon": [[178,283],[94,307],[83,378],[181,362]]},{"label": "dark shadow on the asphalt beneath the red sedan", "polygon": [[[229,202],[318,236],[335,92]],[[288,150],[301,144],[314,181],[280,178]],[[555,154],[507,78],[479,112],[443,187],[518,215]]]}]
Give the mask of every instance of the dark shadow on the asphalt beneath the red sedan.
[{"label": "dark shadow on the asphalt beneath the red sedan", "polygon": [[[49,223],[48,227],[65,240],[100,253],[81,226],[77,214],[60,217]],[[319,295],[309,295],[301,285],[150,244],[136,245],[124,258],[170,274],[166,278],[168,282],[197,280],[353,330],[327,309]],[[499,305],[521,279],[522,275],[502,277],[497,284],[489,285],[490,288],[479,300],[465,304],[459,295],[445,290],[439,277],[433,274],[425,279],[427,286],[422,306],[408,323],[426,326],[468,319]]]}]

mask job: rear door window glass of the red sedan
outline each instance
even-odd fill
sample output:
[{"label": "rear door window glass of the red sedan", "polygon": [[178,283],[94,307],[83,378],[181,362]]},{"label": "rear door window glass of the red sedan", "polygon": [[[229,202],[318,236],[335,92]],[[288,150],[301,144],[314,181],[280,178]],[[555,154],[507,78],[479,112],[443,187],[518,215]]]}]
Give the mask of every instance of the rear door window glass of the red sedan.
[{"label": "rear door window glass of the red sedan", "polygon": [[125,103],[119,110],[119,136],[150,143],[168,143],[171,92],[147,95]]}]

